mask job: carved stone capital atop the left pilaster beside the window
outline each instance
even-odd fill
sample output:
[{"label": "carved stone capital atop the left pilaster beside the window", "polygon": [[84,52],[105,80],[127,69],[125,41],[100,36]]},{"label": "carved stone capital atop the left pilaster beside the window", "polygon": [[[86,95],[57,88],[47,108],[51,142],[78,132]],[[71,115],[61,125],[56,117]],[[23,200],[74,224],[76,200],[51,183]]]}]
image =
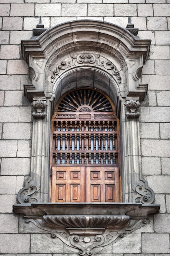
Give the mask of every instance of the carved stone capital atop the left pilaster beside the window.
[{"label": "carved stone capital atop the left pilaster beside the window", "polygon": [[46,100],[45,99],[33,99],[33,117],[36,119],[46,117]]}]

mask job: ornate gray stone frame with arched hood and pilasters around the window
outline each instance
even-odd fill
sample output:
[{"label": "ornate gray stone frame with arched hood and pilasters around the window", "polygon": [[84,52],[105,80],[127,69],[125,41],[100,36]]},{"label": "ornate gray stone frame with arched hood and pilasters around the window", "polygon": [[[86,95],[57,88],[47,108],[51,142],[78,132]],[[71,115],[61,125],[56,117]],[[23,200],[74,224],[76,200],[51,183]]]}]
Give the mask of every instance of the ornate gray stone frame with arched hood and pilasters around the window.
[{"label": "ornate gray stone frame with arched hood and pilasters around the window", "polygon": [[[49,203],[51,115],[55,104],[64,93],[83,84],[82,87],[96,88],[110,97],[121,123],[124,203],[117,204],[118,206],[110,204],[110,207],[113,207],[111,215],[117,216],[116,218],[118,215],[125,216],[122,217],[124,220],[126,219],[122,224],[125,230],[125,227],[130,227],[129,218],[143,223],[149,214],[157,213],[159,206],[152,204],[154,192],[141,175],[138,121],[140,101],[144,100],[148,87],[148,85],[141,85],[139,78],[149,54],[150,40],[140,40],[128,29],[107,22],[76,20],[52,27],[40,36],[34,36],[31,40],[22,40],[21,44],[22,55],[29,65],[29,76],[32,80],[31,84],[24,85],[24,93],[27,99],[33,102],[33,137],[31,176],[19,191],[18,202],[20,204],[14,205],[13,211],[25,214],[28,219],[34,219],[34,224],[39,227],[42,225],[43,229],[48,226],[46,221],[43,220],[42,224],[38,218],[40,215],[42,216],[40,213],[42,207],[44,207],[44,216],[49,216],[51,212],[49,210],[51,209]],[[84,205],[87,207],[87,204]],[[127,205],[137,212],[135,216],[132,213],[128,214]],[[147,210],[138,211],[139,205],[141,209]],[[57,204],[59,209],[65,206]],[[108,214],[108,212],[104,213],[103,207],[99,207],[101,212],[100,210],[97,212],[98,217]],[[107,207],[109,209],[109,206]],[[122,207],[125,209],[124,212],[120,210]],[[31,213],[30,209],[34,209],[34,213]],[[54,209],[56,211],[53,211],[53,217],[59,214],[58,208],[54,207]],[[81,215],[84,213],[85,219],[90,218],[89,213],[86,213],[85,208],[83,209],[84,212]],[[93,204],[88,204],[88,209],[91,209],[90,212],[95,215]],[[69,213],[67,214],[69,215]],[[95,219],[95,216],[93,217]],[[60,222],[58,218],[55,217],[55,223]],[[75,216],[71,218],[73,220]],[[112,217],[110,218],[112,219]],[[65,222],[66,219],[67,217]],[[131,230],[136,228],[134,225]],[[69,224],[67,227],[70,227]],[[108,227],[110,226],[107,220],[104,229]],[[85,227],[79,226],[78,228],[84,229]],[[88,234],[95,233],[94,225],[91,224],[88,228],[92,229],[92,231],[88,230]],[[118,225],[113,229],[118,231],[121,228],[122,226]],[[84,231],[80,233],[82,234],[82,232]],[[74,234],[77,233],[74,231]],[[116,239],[118,237],[116,235]],[[60,237],[60,239],[64,242],[63,238]],[[74,244],[73,247],[78,248],[75,245],[76,239],[79,238],[74,237],[74,243],[70,244]],[[103,241],[102,237],[95,239],[98,239],[96,240],[98,242]],[[115,240],[113,239],[113,241]],[[71,246],[70,244],[69,246]],[[84,255],[81,248],[79,248],[79,254]],[[88,255],[91,255],[90,251]]]}]

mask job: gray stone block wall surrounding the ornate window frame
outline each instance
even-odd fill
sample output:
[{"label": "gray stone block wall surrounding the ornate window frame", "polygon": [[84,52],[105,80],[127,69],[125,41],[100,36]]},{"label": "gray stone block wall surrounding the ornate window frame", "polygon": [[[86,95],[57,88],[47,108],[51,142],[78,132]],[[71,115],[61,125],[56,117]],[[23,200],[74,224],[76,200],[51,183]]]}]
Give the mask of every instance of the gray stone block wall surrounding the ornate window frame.
[{"label": "gray stone block wall surrounding the ornate window frame", "polygon": [[0,0],[0,254],[77,256],[78,250],[48,234],[19,234],[12,213],[24,177],[30,173],[31,103],[24,97],[28,66],[20,40],[30,39],[39,22],[45,28],[76,19],[95,19],[126,27],[128,16],[140,39],[151,39],[141,82],[141,166],[155,192],[160,213],[96,256],[170,256],[170,0]]}]

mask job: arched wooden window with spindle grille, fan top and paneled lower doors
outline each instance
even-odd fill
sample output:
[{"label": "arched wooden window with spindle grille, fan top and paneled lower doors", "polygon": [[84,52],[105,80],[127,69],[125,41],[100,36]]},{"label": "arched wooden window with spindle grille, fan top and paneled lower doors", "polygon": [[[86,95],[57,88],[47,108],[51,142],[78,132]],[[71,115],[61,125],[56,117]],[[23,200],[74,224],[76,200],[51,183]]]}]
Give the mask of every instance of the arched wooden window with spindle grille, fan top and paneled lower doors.
[{"label": "arched wooden window with spindle grille, fan top and paneled lower doors", "polygon": [[113,103],[91,88],[68,92],[51,126],[51,202],[121,202],[120,128]]}]

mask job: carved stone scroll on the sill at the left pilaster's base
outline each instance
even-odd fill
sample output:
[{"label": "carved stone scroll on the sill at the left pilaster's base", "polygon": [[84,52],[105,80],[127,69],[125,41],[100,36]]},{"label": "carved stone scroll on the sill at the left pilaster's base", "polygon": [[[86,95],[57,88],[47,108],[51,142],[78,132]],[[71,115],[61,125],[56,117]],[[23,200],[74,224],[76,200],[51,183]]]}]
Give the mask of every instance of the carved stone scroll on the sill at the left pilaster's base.
[{"label": "carved stone scroll on the sill at the left pilaster's base", "polygon": [[22,189],[18,192],[17,200],[20,204],[26,203],[38,203],[40,202],[40,198],[35,195],[35,192],[38,192],[40,189],[40,185],[36,185],[33,182],[33,177],[29,177]]}]

